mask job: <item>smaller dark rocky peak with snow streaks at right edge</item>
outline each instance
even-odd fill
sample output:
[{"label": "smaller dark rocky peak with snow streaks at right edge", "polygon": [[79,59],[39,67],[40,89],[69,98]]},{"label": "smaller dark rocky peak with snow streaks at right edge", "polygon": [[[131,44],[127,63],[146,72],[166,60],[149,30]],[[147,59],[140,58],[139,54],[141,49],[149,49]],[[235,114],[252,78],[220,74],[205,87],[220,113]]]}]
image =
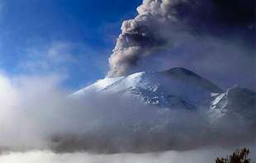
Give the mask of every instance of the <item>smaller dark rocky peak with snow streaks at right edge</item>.
[{"label": "smaller dark rocky peak with snow streaks at right edge", "polygon": [[254,121],[256,117],[256,93],[239,86],[233,86],[224,93],[216,95],[211,102],[211,119],[232,116],[237,121]]}]

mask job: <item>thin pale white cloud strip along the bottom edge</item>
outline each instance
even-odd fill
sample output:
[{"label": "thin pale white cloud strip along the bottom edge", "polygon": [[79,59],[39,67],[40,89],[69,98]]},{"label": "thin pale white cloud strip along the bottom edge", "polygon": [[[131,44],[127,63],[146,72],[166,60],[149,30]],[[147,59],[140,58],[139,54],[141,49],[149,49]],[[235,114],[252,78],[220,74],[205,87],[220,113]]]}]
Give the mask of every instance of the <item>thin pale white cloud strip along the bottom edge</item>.
[{"label": "thin pale white cloud strip along the bottom edge", "polygon": [[[0,156],[4,163],[213,163],[216,157],[225,157],[235,149],[211,148],[194,151],[166,151],[145,154],[96,155],[86,152],[55,154],[50,151],[14,152]],[[256,147],[251,147],[249,157],[256,159]]]}]

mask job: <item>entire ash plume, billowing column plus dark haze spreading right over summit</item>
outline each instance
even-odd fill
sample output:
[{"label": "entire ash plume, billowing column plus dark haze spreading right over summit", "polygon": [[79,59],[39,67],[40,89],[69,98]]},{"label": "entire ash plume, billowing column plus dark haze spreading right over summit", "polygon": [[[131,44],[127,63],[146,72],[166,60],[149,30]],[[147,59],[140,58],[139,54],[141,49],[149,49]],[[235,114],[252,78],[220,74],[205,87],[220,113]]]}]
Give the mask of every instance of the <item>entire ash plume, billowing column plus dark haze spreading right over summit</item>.
[{"label": "entire ash plume, billowing column plus dark haze spreading right over summit", "polygon": [[[220,60],[218,72],[230,73],[230,78],[254,72],[255,62],[250,62],[256,60],[254,0],[144,0],[137,11],[138,16],[121,26],[109,58],[108,77],[179,64],[200,69],[200,73],[218,81],[216,75],[222,74],[213,67]],[[210,59],[211,65],[201,65]],[[234,73],[230,67],[235,65],[239,66]],[[256,88],[256,79],[248,80],[245,85]]]}]

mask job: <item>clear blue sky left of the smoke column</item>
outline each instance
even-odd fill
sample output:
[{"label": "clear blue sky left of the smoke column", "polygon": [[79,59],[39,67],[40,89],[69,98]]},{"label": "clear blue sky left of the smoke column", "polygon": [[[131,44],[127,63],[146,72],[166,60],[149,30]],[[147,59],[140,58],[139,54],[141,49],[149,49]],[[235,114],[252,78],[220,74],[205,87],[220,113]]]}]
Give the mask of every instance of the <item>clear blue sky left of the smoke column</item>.
[{"label": "clear blue sky left of the smoke column", "polygon": [[121,22],[141,0],[0,0],[0,69],[65,73],[78,89],[105,76]]}]

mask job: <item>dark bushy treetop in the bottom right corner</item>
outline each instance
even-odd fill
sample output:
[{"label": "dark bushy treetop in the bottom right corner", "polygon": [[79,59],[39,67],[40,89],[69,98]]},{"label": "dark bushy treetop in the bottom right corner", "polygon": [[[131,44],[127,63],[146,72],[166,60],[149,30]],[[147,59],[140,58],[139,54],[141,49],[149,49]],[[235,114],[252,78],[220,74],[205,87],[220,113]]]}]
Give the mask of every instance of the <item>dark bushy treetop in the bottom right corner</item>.
[{"label": "dark bushy treetop in the bottom right corner", "polygon": [[232,155],[227,156],[227,158],[217,158],[216,163],[250,163],[251,160],[248,156],[249,149],[238,149]]}]

